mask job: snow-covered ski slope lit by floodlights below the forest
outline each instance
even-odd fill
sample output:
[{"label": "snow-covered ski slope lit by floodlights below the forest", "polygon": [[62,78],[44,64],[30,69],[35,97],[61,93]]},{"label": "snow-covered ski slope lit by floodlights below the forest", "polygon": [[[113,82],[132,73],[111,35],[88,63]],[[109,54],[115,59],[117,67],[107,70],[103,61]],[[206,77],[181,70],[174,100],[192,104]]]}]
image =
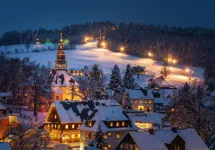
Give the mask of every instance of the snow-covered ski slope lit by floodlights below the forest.
[{"label": "snow-covered ski slope lit by floodlights below the forest", "polygon": [[[105,74],[111,73],[111,68],[114,64],[117,64],[123,71],[127,64],[145,66],[149,75],[160,75],[162,62],[157,62],[151,59],[138,58],[129,56],[122,53],[111,52],[107,49],[97,48],[97,43],[92,42],[84,45],[77,45],[76,50],[67,50],[66,57],[69,68],[83,68],[85,65],[91,66],[93,64],[99,64]],[[14,46],[19,47],[19,46]],[[41,47],[47,48],[47,45],[41,45]],[[56,45],[49,45],[49,47],[56,47]],[[25,46],[22,46],[25,49]],[[31,45],[29,51],[35,48],[35,45]],[[12,49],[12,48],[8,48]],[[26,49],[25,49],[26,50]],[[1,51],[1,47],[0,47]],[[48,62],[54,63],[56,60],[57,51],[43,51],[43,52],[29,52],[21,54],[9,54],[9,57],[29,57],[32,61],[37,61],[43,65],[47,65]],[[185,72],[186,66],[172,66],[172,73],[166,79],[166,84],[181,85],[189,80],[188,75]],[[202,79],[204,69],[192,68],[192,79]],[[149,75],[142,76],[136,79],[136,82],[145,86],[148,82]],[[164,84],[165,84],[164,83]]]}]

